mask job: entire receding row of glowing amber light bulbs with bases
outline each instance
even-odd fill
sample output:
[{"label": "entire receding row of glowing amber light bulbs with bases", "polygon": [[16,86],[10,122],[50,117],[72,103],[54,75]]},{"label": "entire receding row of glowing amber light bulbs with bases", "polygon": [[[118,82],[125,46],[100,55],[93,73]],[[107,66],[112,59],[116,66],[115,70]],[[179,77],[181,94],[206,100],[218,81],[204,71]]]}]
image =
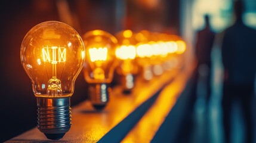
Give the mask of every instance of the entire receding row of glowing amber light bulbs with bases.
[{"label": "entire receding row of glowing amber light bulbs with bases", "polygon": [[125,79],[124,91],[131,91],[139,67],[144,79],[150,80],[162,69],[170,70],[172,57],[185,50],[180,37],[147,30],[123,30],[115,36],[92,30],[81,38],[58,21],[36,25],[24,37],[20,57],[37,99],[38,129],[49,139],[60,139],[70,129],[70,97],[82,69],[92,105],[103,109],[115,69]]}]

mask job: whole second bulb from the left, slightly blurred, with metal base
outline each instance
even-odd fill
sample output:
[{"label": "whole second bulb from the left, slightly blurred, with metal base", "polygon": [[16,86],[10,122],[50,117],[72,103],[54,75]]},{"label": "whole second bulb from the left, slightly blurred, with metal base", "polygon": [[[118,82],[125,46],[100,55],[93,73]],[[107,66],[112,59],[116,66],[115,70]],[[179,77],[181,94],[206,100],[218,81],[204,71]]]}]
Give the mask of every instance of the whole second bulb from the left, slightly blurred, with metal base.
[{"label": "whole second bulb from the left, slightly blurred, with metal base", "polygon": [[82,37],[87,57],[84,64],[84,77],[90,83],[92,106],[102,110],[109,101],[110,82],[117,66],[115,50],[117,39],[103,30],[92,30]]}]

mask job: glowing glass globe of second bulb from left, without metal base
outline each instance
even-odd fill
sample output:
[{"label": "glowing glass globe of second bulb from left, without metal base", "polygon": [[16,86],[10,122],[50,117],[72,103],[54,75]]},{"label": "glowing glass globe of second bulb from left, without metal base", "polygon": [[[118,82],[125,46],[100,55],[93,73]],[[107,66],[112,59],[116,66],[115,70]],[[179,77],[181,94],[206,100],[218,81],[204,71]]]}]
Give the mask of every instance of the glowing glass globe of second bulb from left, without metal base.
[{"label": "glowing glass globe of second bulb from left, without metal base", "polygon": [[92,30],[83,36],[85,45],[84,77],[88,83],[110,83],[117,66],[118,41],[103,30]]}]

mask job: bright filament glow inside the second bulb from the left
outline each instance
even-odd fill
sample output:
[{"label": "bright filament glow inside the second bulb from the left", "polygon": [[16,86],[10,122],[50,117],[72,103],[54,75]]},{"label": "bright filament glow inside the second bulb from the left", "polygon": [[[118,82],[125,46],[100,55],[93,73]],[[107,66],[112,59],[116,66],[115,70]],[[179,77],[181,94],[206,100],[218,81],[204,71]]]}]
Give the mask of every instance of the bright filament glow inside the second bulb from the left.
[{"label": "bright filament glow inside the second bulb from the left", "polygon": [[107,60],[107,48],[90,48],[89,49],[91,61],[106,61]]}]

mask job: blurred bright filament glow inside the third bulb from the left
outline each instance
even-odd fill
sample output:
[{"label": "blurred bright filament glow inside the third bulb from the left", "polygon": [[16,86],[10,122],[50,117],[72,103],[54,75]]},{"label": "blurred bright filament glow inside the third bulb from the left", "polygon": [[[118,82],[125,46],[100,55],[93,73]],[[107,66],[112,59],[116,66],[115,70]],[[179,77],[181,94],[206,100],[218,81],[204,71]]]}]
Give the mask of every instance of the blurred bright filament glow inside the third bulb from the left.
[{"label": "blurred bright filament glow inside the third bulb from the left", "polygon": [[136,48],[132,45],[122,45],[120,48],[116,49],[116,57],[120,58],[121,60],[132,60],[136,57]]}]

